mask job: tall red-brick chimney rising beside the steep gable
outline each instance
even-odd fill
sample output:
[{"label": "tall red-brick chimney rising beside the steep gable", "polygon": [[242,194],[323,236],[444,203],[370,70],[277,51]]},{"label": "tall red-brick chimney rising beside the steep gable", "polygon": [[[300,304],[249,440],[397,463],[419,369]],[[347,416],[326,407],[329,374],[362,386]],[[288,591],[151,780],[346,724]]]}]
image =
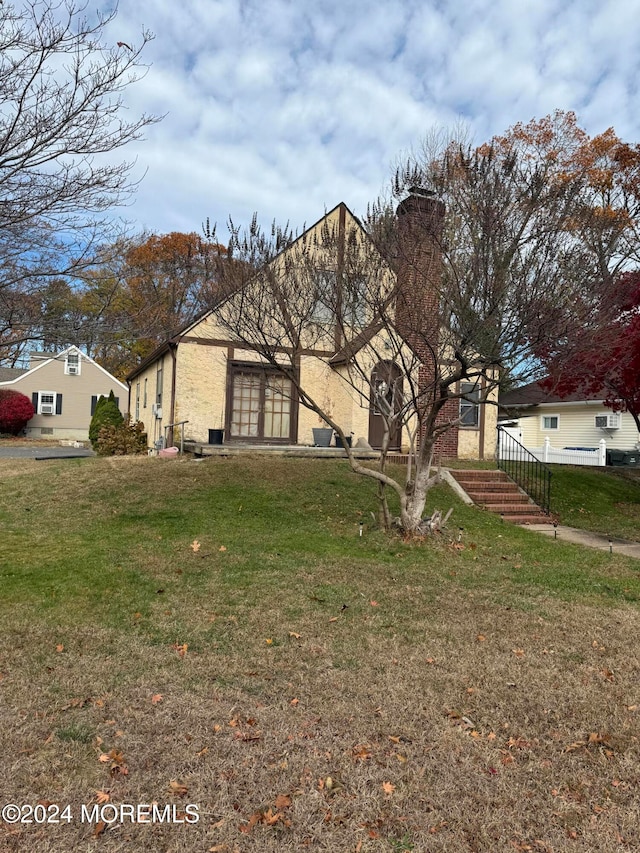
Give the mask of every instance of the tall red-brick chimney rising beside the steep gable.
[{"label": "tall red-brick chimney rising beside the steep gable", "polygon": [[[433,387],[438,339],[440,336],[440,242],[445,206],[430,190],[411,187],[396,210],[397,216],[397,302],[396,324],[422,366],[420,384]],[[458,400],[447,402],[438,422],[458,416]],[[436,450],[443,456],[457,456],[458,429],[445,433]]]}]

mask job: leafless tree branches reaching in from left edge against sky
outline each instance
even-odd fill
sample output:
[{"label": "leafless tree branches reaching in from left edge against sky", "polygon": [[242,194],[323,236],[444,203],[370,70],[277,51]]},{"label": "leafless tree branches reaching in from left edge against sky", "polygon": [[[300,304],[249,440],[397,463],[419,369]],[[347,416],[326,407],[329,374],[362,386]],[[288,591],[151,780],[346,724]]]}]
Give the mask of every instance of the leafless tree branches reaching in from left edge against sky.
[{"label": "leafless tree branches reaching in from left edge against sky", "polygon": [[[31,334],[28,307],[51,278],[81,275],[106,217],[135,191],[131,162],[110,155],[157,119],[127,120],[123,92],[146,71],[139,45],[114,43],[117,9],[75,0],[0,5],[0,343]],[[16,311],[22,300],[22,311]],[[11,314],[6,314],[11,311]],[[22,316],[26,315],[26,316]],[[8,331],[6,327],[9,327]]]}]

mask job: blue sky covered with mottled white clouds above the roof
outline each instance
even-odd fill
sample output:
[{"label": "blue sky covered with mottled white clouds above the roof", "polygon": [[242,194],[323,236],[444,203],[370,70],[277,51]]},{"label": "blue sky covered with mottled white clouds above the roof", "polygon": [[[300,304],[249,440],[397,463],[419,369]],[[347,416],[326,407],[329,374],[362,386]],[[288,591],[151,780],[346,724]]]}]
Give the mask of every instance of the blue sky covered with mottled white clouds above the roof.
[{"label": "blue sky covered with mottled white clouds above the roof", "polygon": [[155,34],[128,106],[166,113],[127,149],[146,176],[125,215],[224,237],[229,215],[362,213],[403,152],[461,121],[479,143],[571,109],[640,141],[639,20],[640,0],[120,0],[114,41]]}]

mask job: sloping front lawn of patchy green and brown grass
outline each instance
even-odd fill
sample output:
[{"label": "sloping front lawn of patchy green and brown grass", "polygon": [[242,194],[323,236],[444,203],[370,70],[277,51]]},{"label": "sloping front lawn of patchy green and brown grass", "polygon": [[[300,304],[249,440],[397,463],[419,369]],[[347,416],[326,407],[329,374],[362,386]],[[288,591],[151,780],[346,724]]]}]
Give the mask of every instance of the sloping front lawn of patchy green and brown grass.
[{"label": "sloping front lawn of patchy green and brown grass", "polygon": [[[74,820],[0,824],[0,850],[640,849],[633,561],[457,505],[464,550],[359,540],[368,492],[338,463],[20,467],[0,464],[6,541],[57,580],[21,585],[17,551],[0,557],[3,800],[70,803]],[[83,556],[52,568],[56,519]],[[559,593],[517,577],[528,563],[620,593]],[[98,791],[194,803],[200,821],[94,835],[80,810]]]}]

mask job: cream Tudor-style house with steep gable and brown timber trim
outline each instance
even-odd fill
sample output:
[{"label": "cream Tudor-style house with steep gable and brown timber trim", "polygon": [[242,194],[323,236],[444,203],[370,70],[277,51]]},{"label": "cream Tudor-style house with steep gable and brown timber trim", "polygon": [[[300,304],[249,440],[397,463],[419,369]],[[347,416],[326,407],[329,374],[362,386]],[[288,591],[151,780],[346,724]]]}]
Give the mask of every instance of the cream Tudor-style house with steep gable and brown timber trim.
[{"label": "cream Tudor-style house with steep gable and brown timber trim", "polygon": [[[403,211],[410,217],[420,216],[425,213],[425,206],[433,203],[415,196]],[[295,258],[289,267],[287,259],[299,249],[299,241],[307,247],[317,245],[322,242],[320,235],[327,231],[356,234],[363,247],[371,250],[373,246],[356,217],[340,203],[277,256],[272,261],[274,268],[278,267],[280,273],[295,268]],[[344,248],[341,254],[338,244],[335,257],[323,258],[320,266],[339,270],[344,262],[341,258]],[[334,281],[336,275],[334,272]],[[380,276],[403,286],[401,268],[396,276],[388,264],[383,265]],[[213,442],[216,432],[224,431],[225,444],[314,444],[312,431],[321,426],[317,414],[300,404],[295,387],[282,372],[267,365],[246,343],[234,339],[228,326],[220,322],[220,312],[231,298],[234,296],[221,300],[218,306],[183,327],[129,373],[132,417],[144,423],[150,443],[171,441],[173,425],[186,422],[185,437],[201,443]],[[379,448],[383,427],[375,392],[388,388],[387,399],[394,405],[394,400],[402,396],[403,373],[399,364],[388,359],[366,361],[371,359],[372,351],[384,352],[385,330],[375,322],[367,322],[366,312],[357,300],[352,307],[353,334],[348,340],[339,334],[313,339],[309,336],[296,355],[295,369],[301,386],[323,404],[325,411],[331,410],[345,434],[352,433],[354,441],[364,438],[373,448]],[[319,311],[323,310],[320,306]],[[373,347],[374,343],[378,346]],[[406,343],[409,346],[410,341]],[[349,375],[354,360],[358,360],[360,374],[366,377],[361,388],[354,387]],[[492,457],[497,407],[475,400],[476,392],[471,386],[462,390],[468,391],[468,398],[447,403],[449,408],[444,415],[451,418],[453,414],[460,423],[443,435],[437,449],[449,457]],[[406,427],[391,436],[391,450],[405,451],[408,445]]]}]

